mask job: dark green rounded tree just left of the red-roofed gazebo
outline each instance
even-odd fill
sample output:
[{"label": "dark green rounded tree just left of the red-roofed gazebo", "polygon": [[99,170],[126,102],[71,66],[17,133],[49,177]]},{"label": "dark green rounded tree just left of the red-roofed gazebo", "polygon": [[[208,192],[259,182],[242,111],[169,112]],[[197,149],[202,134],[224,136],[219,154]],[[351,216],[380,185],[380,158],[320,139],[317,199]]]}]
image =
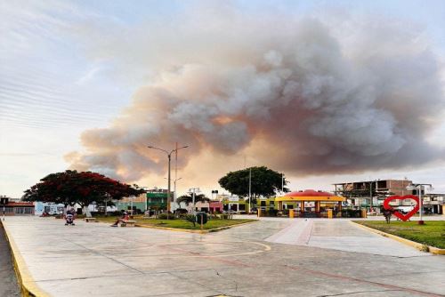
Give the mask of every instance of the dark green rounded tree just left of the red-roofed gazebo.
[{"label": "dark green rounded tree just left of the red-roofed gazebo", "polygon": [[[255,200],[258,197],[271,197],[281,190],[281,182],[286,186],[284,175],[277,173],[266,166],[250,167],[236,172],[227,173],[218,182],[223,189],[240,197],[248,197],[249,174],[251,171],[251,194]],[[285,192],[289,189],[284,188]]]}]

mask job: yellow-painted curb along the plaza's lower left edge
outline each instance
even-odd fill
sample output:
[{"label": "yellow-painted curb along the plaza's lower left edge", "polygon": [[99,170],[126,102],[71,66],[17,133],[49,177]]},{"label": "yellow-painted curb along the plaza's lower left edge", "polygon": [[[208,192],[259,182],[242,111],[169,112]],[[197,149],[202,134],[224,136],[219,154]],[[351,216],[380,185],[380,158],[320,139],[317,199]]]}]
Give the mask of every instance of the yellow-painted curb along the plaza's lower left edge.
[{"label": "yellow-painted curb along the plaza's lower left edge", "polygon": [[17,281],[20,285],[21,296],[49,297],[47,293],[45,293],[38,285],[36,285],[36,282],[31,277],[28,267],[26,266],[23,257],[19,253],[19,249],[17,248],[17,245],[15,244],[14,239],[12,238],[8,229],[5,228],[2,222],[0,222],[0,225],[3,226],[4,234],[6,235],[6,240],[9,243],[9,246],[11,247],[12,262],[14,265],[15,274],[17,276]]}]

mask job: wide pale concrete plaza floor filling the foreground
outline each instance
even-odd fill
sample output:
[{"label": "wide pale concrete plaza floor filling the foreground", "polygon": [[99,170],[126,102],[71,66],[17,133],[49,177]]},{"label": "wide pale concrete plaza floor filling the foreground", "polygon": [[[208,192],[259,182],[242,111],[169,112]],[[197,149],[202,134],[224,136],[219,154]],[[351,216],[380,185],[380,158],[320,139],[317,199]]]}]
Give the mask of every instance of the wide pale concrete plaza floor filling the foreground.
[{"label": "wide pale concrete plaza floor filling the foreground", "polygon": [[[30,217],[4,226],[32,282],[52,296],[445,295],[445,256],[383,244],[348,221],[311,221],[309,235],[307,221],[287,219],[205,235]],[[339,249],[342,237],[352,248]]]}]

